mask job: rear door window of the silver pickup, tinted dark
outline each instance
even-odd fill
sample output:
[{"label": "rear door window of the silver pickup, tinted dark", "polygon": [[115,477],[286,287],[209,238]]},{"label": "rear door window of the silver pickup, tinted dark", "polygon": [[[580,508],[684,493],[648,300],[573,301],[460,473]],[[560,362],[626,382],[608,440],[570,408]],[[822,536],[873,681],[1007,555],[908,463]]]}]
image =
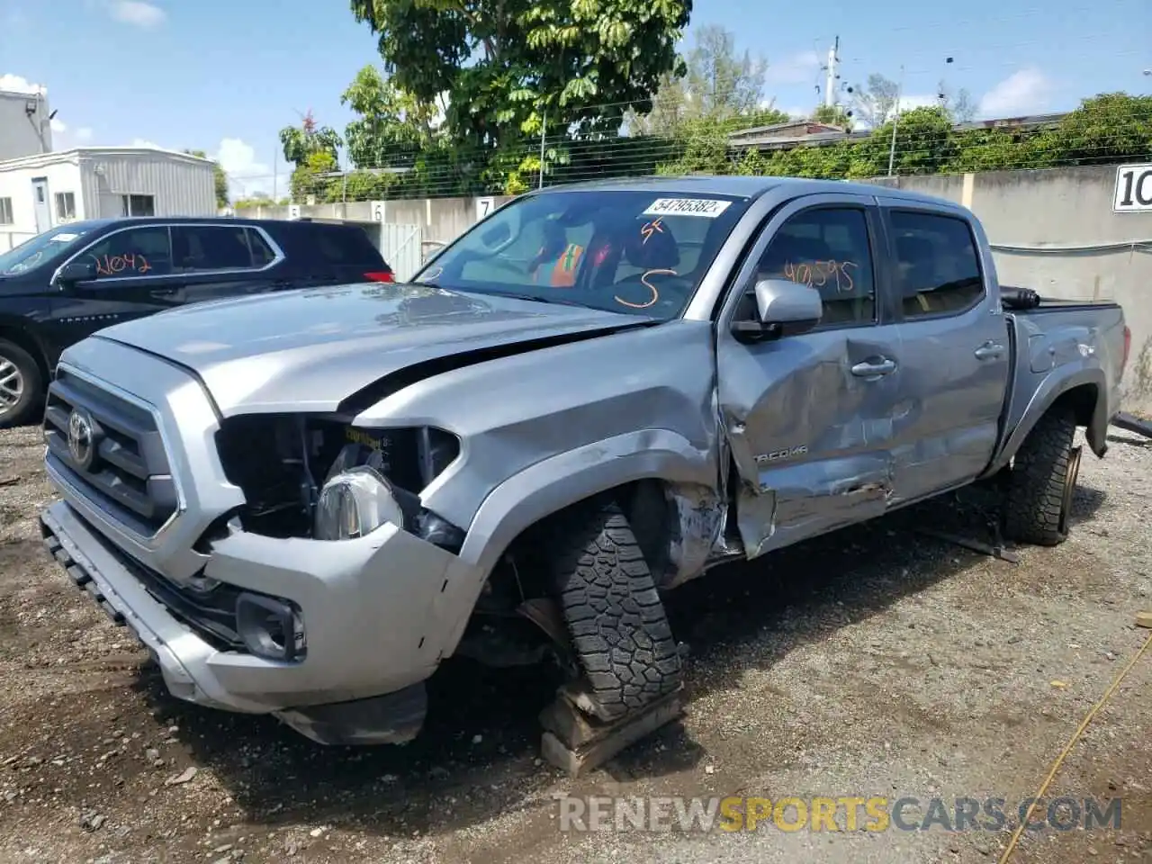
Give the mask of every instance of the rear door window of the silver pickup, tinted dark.
[{"label": "rear door window of the silver pickup, tinted dark", "polygon": [[984,280],[968,222],[901,210],[890,219],[904,318],[955,314],[979,302]]}]

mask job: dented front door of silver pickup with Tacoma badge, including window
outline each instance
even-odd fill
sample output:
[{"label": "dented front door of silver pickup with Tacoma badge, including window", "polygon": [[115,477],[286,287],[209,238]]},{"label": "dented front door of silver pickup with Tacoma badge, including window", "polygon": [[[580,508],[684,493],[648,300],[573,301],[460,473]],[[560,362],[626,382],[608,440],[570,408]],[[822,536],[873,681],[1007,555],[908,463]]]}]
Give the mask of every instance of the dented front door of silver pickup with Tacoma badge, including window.
[{"label": "dented front door of silver pickup with Tacoma badge, including window", "polygon": [[[805,196],[766,223],[718,332],[721,423],[740,475],[737,516],[755,556],[882,514],[893,485],[901,343],[887,305],[878,213],[867,196]],[[743,343],[758,279],[820,291],[811,332]]]}]

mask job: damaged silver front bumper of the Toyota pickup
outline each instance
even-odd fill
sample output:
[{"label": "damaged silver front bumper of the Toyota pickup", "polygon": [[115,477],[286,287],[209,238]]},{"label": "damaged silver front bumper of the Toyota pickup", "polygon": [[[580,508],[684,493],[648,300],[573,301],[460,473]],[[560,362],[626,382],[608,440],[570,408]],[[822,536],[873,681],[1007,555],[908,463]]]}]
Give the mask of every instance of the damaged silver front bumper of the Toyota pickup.
[{"label": "damaged silver front bumper of the Toyota pickup", "polygon": [[449,582],[470,576],[455,555],[392,525],[339,543],[245,533],[217,541],[205,576],[303,611],[305,658],[274,661],[202,638],[147,590],[132,571],[138,562],[67,501],[40,521],[56,561],[136,634],[174,696],[272,713],[321,743],[399,742],[418,732],[423,682],[457,623],[441,598]]}]

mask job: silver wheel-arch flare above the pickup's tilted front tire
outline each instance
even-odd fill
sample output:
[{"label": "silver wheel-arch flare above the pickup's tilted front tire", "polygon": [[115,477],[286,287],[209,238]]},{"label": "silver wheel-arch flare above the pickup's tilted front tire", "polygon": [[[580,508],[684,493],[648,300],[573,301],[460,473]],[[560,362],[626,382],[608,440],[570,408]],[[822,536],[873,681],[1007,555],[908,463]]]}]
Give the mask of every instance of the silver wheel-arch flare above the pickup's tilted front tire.
[{"label": "silver wheel-arch flare above the pickup's tilted front tire", "polygon": [[448,605],[461,611],[455,632],[445,641],[446,655],[460,642],[484,579],[525,529],[626,483],[659,478],[715,487],[718,477],[714,452],[694,446],[677,432],[650,429],[556,454],[508,478],[485,497],[460,550],[460,559],[473,568],[478,578],[446,589],[457,593],[445,598]]}]

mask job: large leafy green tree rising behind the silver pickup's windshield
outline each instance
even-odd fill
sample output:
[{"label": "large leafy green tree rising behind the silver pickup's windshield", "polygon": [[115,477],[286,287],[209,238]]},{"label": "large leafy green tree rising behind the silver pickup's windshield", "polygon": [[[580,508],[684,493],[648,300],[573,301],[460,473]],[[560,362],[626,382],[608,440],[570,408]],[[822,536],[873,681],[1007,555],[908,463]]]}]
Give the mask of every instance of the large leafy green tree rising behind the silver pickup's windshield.
[{"label": "large leafy green tree rising behind the silver pickup's windshield", "polygon": [[539,130],[615,130],[624,111],[682,71],[691,0],[350,0],[385,71],[418,103],[452,93],[446,131],[475,150]]}]

